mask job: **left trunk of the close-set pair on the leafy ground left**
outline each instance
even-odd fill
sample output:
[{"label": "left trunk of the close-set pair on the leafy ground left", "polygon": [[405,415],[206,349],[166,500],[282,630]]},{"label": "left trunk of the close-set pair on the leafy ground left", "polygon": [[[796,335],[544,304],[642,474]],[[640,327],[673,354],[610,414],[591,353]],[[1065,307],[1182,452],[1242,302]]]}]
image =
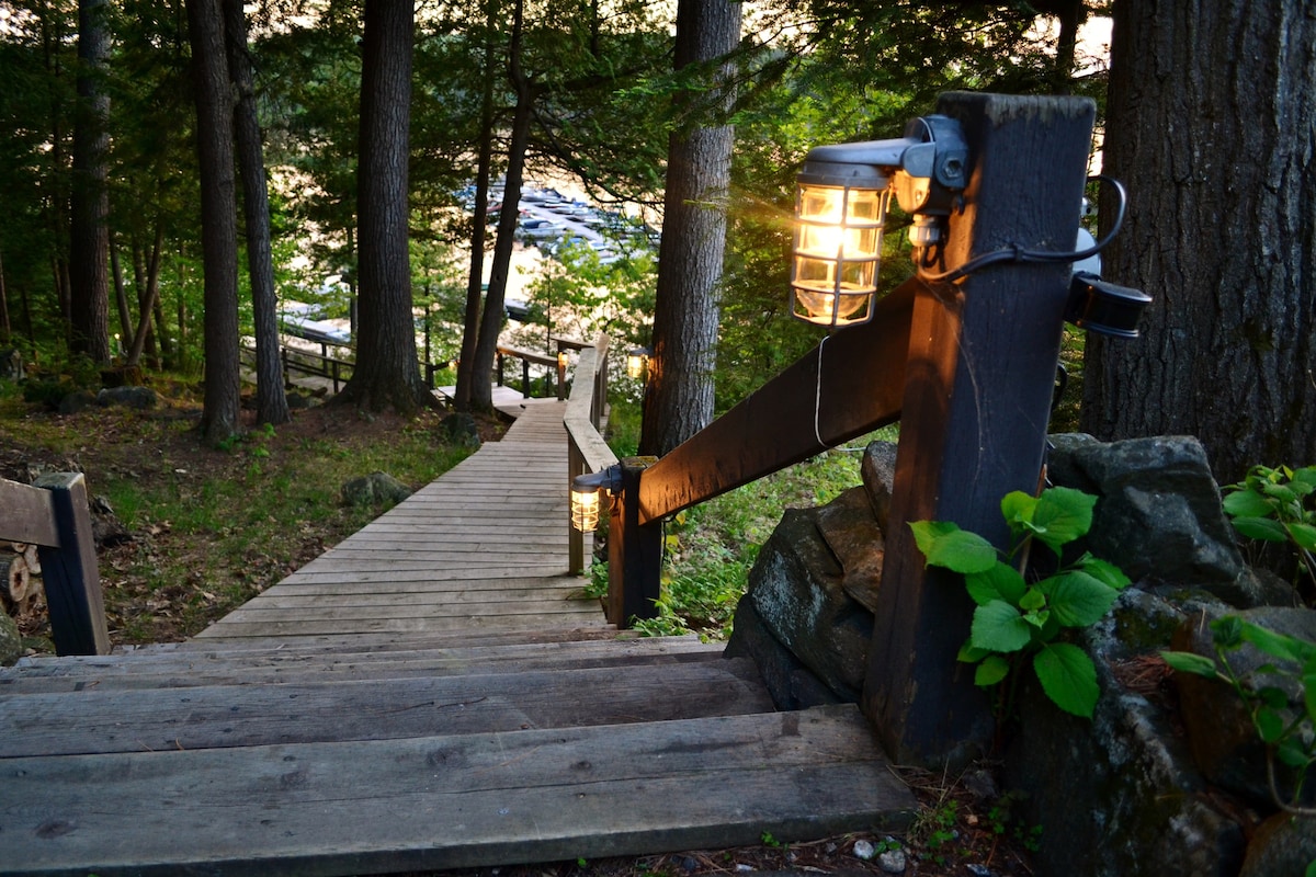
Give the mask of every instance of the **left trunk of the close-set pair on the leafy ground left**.
[{"label": "left trunk of the close-set pair on the leafy ground left", "polygon": [[215,443],[237,434],[241,415],[233,100],[228,63],[224,59],[220,0],[187,0],[187,21],[196,78],[201,258],[205,266],[205,398],[201,433]]}]

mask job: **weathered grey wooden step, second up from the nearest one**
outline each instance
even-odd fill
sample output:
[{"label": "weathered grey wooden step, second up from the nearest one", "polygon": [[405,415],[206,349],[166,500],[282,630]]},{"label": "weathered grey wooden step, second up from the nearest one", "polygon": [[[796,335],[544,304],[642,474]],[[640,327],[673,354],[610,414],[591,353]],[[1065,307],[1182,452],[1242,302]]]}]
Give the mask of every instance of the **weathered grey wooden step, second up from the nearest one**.
[{"label": "weathered grey wooden step, second up from the nearest one", "polygon": [[0,696],[0,759],[378,740],[769,711],[749,659]]}]

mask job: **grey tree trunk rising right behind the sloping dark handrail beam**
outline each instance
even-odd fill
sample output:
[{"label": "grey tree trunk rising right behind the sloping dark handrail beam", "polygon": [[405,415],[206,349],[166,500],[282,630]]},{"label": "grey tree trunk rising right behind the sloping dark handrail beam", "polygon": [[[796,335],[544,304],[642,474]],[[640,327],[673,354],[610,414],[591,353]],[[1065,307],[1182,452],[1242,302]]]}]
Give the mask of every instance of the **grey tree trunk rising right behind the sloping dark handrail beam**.
[{"label": "grey tree trunk rising right behind the sloping dark handrail beam", "polygon": [[[738,3],[680,0],[676,68],[707,63],[740,39]],[[715,112],[730,95],[717,84]],[[688,99],[678,99],[678,112]],[[726,243],[732,126],[679,126],[667,147],[653,358],[640,452],[663,455],[713,419],[719,296]]]}]

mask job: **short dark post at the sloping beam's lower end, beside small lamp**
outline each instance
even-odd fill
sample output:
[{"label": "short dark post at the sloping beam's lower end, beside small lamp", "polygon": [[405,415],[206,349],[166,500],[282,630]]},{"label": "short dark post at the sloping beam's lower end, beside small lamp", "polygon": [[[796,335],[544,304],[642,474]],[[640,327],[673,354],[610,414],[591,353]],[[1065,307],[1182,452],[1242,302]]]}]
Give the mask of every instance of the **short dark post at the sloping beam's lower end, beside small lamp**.
[{"label": "short dark post at the sloping beam's lower end, beside small lamp", "polygon": [[608,621],[629,627],[632,618],[657,618],[662,581],[662,521],[640,523],[640,476],[654,456],[621,460],[621,493],[608,522]]}]

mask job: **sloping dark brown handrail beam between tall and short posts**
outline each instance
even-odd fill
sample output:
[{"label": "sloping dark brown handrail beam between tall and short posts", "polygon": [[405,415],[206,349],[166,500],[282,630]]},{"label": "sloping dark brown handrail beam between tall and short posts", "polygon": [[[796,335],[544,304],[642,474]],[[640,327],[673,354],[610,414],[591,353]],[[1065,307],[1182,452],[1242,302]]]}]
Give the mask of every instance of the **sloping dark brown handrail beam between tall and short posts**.
[{"label": "sloping dark brown handrail beam between tall and short posts", "polygon": [[909,321],[923,288],[921,280],[905,281],[878,301],[873,322],[825,338],[658,460],[640,483],[640,522],[675,514],[896,421]]}]

